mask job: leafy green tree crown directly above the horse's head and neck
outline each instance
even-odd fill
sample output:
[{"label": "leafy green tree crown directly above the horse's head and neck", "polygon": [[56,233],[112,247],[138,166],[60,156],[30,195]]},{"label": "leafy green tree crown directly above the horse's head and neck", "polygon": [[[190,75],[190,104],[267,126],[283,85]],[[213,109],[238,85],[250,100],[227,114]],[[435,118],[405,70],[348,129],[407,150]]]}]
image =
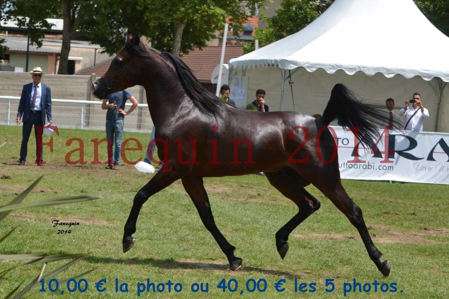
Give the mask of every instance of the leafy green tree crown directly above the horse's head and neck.
[{"label": "leafy green tree crown directly above the horse's head and neck", "polygon": [[80,30],[109,54],[123,47],[123,35],[117,33],[128,28],[153,38],[154,48],[179,56],[194,47],[205,47],[216,31],[223,29],[226,17],[234,32],[242,30],[256,4],[264,7],[263,0],[133,0],[133,5],[104,0],[88,12],[92,17],[86,18]]}]

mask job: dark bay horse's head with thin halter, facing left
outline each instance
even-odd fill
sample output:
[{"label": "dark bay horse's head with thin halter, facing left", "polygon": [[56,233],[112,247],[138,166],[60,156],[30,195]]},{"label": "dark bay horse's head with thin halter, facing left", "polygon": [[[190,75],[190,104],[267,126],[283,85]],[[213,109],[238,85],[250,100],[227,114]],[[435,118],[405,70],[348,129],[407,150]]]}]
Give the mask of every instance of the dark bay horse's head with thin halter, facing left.
[{"label": "dark bay horse's head with thin halter, facing left", "polygon": [[106,74],[92,83],[91,91],[94,97],[106,99],[109,94],[122,91],[137,85],[140,65],[134,55],[136,50],[145,49],[139,36],[129,40],[112,60]]}]

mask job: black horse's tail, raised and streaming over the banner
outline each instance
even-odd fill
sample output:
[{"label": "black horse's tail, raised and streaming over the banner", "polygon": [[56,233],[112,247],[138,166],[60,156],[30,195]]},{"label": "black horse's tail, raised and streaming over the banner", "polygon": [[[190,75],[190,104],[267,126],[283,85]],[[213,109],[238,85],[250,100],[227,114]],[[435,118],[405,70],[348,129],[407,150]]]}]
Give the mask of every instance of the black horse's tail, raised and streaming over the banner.
[{"label": "black horse's tail, raised and streaming over the banner", "polygon": [[362,103],[354,91],[336,84],[321,119],[326,125],[339,119],[343,128],[358,126],[358,139],[365,147],[370,147],[372,140],[379,138],[378,128],[385,127],[388,117],[382,105]]}]

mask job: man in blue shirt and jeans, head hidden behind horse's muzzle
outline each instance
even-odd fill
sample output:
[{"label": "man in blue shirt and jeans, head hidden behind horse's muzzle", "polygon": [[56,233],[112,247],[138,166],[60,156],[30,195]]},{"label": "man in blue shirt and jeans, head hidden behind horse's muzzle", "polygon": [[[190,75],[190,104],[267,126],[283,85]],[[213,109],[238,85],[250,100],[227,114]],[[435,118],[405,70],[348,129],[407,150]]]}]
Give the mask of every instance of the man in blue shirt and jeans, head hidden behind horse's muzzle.
[{"label": "man in blue shirt and jeans, head hidden behind horse's muzzle", "polygon": [[[126,100],[132,103],[131,108],[125,112]],[[106,102],[109,104],[106,105]],[[127,89],[111,93],[108,99],[103,100],[101,109],[108,110],[106,112],[106,137],[108,139],[108,166],[106,169],[119,169],[120,164],[120,148],[122,147],[123,120],[125,115],[132,113],[137,107],[137,100],[131,95]],[[110,142],[109,142],[110,140]],[[112,143],[115,144],[115,152],[113,152]],[[113,157],[114,156],[114,160]]]}]

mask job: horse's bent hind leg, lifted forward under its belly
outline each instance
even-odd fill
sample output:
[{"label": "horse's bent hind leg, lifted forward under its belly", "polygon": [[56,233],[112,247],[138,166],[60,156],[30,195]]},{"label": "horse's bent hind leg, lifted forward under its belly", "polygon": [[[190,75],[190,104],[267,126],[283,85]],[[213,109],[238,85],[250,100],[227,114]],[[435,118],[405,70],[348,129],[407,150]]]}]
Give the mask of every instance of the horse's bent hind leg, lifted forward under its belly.
[{"label": "horse's bent hind leg, lifted forward under its belly", "polygon": [[291,199],[299,208],[299,212],[276,233],[277,252],[284,259],[288,251],[288,236],[301,222],[317,211],[321,204],[318,199],[304,189],[308,182],[301,178],[295,170],[285,167],[275,172],[266,172],[265,175],[271,185],[286,198]]}]

